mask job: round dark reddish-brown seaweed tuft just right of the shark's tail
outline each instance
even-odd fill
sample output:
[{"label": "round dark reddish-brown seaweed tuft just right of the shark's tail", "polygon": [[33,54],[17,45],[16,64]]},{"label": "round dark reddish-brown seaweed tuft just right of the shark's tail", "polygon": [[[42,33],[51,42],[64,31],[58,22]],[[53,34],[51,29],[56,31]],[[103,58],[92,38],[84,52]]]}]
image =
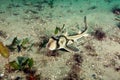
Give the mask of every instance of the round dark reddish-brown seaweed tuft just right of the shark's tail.
[{"label": "round dark reddish-brown seaweed tuft just right of the shark's tail", "polygon": [[101,28],[96,29],[95,32],[93,32],[93,35],[97,40],[100,41],[106,37],[105,32],[103,32]]}]

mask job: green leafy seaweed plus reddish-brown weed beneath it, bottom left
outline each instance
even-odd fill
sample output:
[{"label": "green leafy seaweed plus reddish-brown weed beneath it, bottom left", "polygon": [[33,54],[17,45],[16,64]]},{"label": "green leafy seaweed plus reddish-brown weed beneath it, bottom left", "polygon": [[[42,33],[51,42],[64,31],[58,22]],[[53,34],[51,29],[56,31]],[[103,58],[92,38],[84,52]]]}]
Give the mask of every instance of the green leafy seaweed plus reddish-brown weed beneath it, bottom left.
[{"label": "green leafy seaweed plus reddish-brown weed beneath it, bottom left", "polygon": [[[40,74],[37,74],[36,68],[33,67],[34,60],[33,58],[28,58],[24,56],[18,56],[17,60],[11,61],[8,64],[5,65],[6,73],[9,71],[15,72],[23,72],[25,74],[26,80],[41,80]],[[23,77],[17,76],[15,80],[21,80]]]}]

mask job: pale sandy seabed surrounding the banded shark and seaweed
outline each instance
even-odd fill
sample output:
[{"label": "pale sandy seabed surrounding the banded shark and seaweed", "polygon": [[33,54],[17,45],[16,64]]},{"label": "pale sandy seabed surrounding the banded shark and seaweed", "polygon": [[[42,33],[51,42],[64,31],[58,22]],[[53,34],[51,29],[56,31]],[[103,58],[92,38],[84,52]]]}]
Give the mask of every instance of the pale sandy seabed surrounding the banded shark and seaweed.
[{"label": "pale sandy seabed surrounding the banded shark and seaweed", "polygon": [[[0,30],[7,35],[5,38],[0,36],[1,42],[9,45],[17,36],[39,43],[41,36],[54,36],[55,27],[62,27],[63,24],[69,34],[78,32],[75,26],[84,28],[84,16],[87,17],[89,37],[74,44],[79,49],[77,53],[58,51],[58,56],[47,56],[45,47],[38,50],[38,46],[34,46],[33,51],[10,52],[10,61],[17,56],[27,55],[35,61],[34,67],[42,75],[41,80],[69,80],[67,77],[76,65],[73,56],[79,54],[83,61],[78,66],[80,71],[76,72],[78,79],[75,77],[71,80],[120,80],[120,28],[116,25],[119,21],[115,20],[120,15],[111,11],[116,5],[120,7],[119,0],[54,0],[53,6],[42,3],[38,8],[39,2],[0,1]],[[105,32],[103,40],[91,35],[97,28]],[[88,45],[93,50],[86,48]],[[6,63],[7,60],[0,56],[0,74],[4,72]],[[17,76],[26,80],[22,72],[10,73],[8,79],[4,80],[15,80]]]}]

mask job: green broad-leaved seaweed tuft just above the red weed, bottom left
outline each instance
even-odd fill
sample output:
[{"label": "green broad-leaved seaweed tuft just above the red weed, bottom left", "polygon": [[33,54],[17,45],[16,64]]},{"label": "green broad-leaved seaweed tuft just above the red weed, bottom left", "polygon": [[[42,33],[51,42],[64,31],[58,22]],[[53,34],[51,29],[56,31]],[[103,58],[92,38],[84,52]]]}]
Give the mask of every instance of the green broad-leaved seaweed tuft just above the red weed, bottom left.
[{"label": "green broad-leaved seaweed tuft just above the red weed, bottom left", "polygon": [[[18,56],[17,60],[11,61],[5,65],[6,71],[8,71],[8,67],[10,67],[10,72],[12,71],[23,71],[31,70],[33,67],[34,61],[32,58]],[[26,71],[25,71],[26,73]]]}]

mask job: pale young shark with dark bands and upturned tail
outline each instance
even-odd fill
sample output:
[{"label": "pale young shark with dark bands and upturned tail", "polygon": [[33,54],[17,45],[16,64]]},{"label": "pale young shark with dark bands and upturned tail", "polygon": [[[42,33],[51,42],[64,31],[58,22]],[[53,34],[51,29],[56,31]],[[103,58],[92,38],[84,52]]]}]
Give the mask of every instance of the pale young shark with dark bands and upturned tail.
[{"label": "pale young shark with dark bands and upturned tail", "polygon": [[78,34],[76,35],[68,35],[67,32],[65,34],[61,34],[59,36],[52,36],[46,47],[53,51],[53,50],[59,50],[59,49],[65,49],[68,52],[76,52],[78,50],[74,50],[70,48],[70,44],[76,42],[78,39],[88,36],[87,32],[87,21],[86,21],[86,16],[84,17],[84,24],[85,24],[85,29],[83,31],[79,31]]}]

